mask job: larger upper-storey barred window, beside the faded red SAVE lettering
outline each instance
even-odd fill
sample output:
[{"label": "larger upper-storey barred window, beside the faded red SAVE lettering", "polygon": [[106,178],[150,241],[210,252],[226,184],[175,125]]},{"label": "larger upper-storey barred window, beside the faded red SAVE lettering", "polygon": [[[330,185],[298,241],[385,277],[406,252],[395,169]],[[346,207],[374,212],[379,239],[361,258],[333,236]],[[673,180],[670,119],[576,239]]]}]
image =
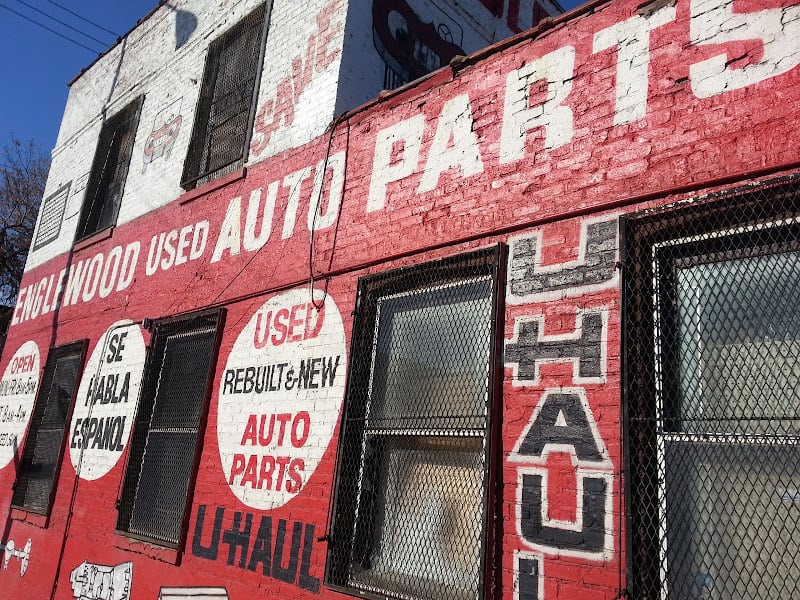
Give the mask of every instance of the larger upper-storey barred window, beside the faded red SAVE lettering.
[{"label": "larger upper-storey barred window, beside the faded red SAVE lettering", "polygon": [[184,188],[241,168],[246,157],[261,72],[266,6],[250,13],[208,48]]}]

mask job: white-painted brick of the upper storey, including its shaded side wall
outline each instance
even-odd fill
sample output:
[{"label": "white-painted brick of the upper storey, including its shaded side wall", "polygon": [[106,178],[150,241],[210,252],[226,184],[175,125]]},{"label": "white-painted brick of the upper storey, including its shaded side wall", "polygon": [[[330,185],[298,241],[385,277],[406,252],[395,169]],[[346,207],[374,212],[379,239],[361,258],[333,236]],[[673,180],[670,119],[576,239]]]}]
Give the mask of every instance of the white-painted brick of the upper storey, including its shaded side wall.
[{"label": "white-painted brick of the upper storey, including its shaded side wall", "polygon": [[[48,197],[70,183],[65,217],[59,237],[31,252],[26,269],[71,248],[104,117],[112,117],[139,95],[145,100],[117,224],[165,206],[183,193],[180,179],[208,45],[261,1],[164,4],[72,83],[45,191]],[[308,143],[336,114],[378,95],[384,63],[373,38],[373,1],[391,5],[392,0],[274,0],[247,164]],[[479,0],[408,2],[421,19],[457,30],[456,41],[466,52],[510,34],[504,17],[495,19]],[[321,19],[320,14],[330,18]],[[194,24],[194,30],[179,44],[187,24]],[[310,77],[296,65],[311,69]],[[292,118],[280,121],[281,126],[265,136],[264,128],[281,101],[292,103]],[[170,152],[147,160],[148,136],[178,115],[182,122]]]}]

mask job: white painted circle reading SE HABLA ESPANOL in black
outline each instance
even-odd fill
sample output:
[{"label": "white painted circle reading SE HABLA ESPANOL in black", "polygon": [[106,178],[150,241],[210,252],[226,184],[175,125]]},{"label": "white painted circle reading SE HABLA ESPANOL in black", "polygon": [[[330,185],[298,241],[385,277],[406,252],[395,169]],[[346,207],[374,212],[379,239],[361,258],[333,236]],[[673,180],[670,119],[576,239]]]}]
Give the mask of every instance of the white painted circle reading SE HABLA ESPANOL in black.
[{"label": "white painted circle reading SE HABLA ESPANOL in black", "polygon": [[102,477],[128,444],[144,372],[145,346],[137,323],[108,328],[86,361],[69,429],[69,457],[82,479]]}]

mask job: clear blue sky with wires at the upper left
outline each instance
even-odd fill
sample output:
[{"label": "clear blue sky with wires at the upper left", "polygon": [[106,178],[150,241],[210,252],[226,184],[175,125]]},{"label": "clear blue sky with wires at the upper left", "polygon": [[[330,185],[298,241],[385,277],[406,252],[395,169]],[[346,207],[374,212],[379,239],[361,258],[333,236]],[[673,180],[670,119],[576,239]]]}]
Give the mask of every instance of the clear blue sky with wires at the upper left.
[{"label": "clear blue sky with wires at the upper left", "polygon": [[[98,51],[107,49],[117,39],[60,7],[122,35],[157,4],[158,0],[0,0],[0,73],[3,74],[0,147],[8,144],[13,135],[22,142],[33,140],[48,154],[56,143],[67,102],[67,84],[97,58]],[[12,11],[92,50],[69,42]],[[96,39],[82,36],[41,13]]]}]

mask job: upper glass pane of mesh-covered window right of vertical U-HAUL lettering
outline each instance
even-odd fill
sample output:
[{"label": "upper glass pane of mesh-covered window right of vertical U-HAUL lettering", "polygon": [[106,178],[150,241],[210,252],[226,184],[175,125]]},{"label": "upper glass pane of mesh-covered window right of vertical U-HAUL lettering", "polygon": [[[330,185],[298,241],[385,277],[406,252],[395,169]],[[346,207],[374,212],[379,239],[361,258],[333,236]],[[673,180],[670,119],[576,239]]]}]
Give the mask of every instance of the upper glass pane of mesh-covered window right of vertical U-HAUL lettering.
[{"label": "upper glass pane of mesh-covered window right of vertical U-HAUL lettering", "polygon": [[676,271],[682,431],[800,434],[800,253]]}]

